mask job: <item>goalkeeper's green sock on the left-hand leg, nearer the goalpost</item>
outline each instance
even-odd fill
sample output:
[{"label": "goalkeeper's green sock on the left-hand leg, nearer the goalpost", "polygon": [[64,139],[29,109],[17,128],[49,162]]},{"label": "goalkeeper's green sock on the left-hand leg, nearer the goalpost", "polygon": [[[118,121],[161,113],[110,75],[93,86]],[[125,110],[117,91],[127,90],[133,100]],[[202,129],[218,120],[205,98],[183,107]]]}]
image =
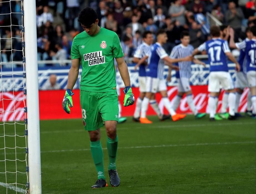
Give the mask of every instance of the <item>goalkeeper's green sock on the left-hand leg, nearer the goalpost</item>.
[{"label": "goalkeeper's green sock on the left-hand leg, nearer the goalpost", "polygon": [[100,141],[91,141],[91,155],[98,172],[98,179],[103,178],[106,180],[103,167],[103,151]]}]

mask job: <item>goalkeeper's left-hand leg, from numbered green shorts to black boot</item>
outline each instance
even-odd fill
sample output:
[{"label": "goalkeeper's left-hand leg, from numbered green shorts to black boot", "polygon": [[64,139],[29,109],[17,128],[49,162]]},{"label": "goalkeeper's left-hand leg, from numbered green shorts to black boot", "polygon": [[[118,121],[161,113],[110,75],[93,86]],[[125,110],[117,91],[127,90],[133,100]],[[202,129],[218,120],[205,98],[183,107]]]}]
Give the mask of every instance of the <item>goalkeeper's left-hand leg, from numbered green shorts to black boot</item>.
[{"label": "goalkeeper's left-hand leg, from numbered green shorts to black boot", "polygon": [[100,127],[103,126],[99,113],[97,93],[80,90],[80,103],[84,129],[89,132],[91,141],[91,155],[97,170],[98,180],[92,188],[106,186],[103,167],[103,151],[100,142]]}]

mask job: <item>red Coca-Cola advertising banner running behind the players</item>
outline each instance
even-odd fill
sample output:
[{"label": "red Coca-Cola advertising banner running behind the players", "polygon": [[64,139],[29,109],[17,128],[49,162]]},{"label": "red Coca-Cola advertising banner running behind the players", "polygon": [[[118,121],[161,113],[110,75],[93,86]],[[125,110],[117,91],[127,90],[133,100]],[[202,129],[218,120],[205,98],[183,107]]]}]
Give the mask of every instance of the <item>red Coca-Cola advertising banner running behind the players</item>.
[{"label": "red Coca-Cola advertising banner running behind the players", "polygon": [[[199,112],[208,112],[208,91],[207,86],[191,86],[193,91],[193,99]],[[138,88],[133,88],[133,94],[135,99],[139,96]],[[50,91],[39,91],[39,115],[41,120],[48,119],[79,119],[81,118],[81,107],[79,99],[79,90],[73,90],[73,108],[71,113],[67,114],[62,109],[62,100],[64,96],[64,90],[50,90]],[[221,107],[221,99],[223,92],[221,92],[218,102],[219,111]],[[248,89],[245,89],[240,99],[239,111],[244,112],[247,107],[247,94]],[[168,96],[170,101],[177,95],[177,87],[168,87]],[[119,101],[123,104],[124,94],[121,92]],[[160,94],[156,94],[156,101],[159,104],[159,108],[166,114],[168,112],[163,107]],[[25,99],[26,102],[26,99]],[[15,111],[14,111],[15,110]],[[135,104],[128,107],[122,106],[122,116],[132,116],[135,110]],[[28,110],[29,111],[29,110]],[[188,107],[185,96],[180,101],[180,106],[177,109],[177,113],[192,113]],[[155,115],[153,109],[149,106],[147,115]],[[0,95],[0,122],[6,121],[22,121],[24,120],[24,102],[23,102],[23,91],[20,92],[3,92]]]}]

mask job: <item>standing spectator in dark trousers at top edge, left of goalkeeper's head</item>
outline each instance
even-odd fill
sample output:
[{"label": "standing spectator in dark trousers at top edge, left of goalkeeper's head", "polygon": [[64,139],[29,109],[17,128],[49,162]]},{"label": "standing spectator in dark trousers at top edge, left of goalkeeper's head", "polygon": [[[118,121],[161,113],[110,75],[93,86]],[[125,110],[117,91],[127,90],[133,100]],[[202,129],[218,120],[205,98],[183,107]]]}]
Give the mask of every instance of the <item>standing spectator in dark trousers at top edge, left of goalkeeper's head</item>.
[{"label": "standing spectator in dark trousers at top edge, left of goalkeeper's head", "polygon": [[66,0],[66,28],[69,31],[74,26],[74,19],[78,15],[79,3],[78,0]]}]

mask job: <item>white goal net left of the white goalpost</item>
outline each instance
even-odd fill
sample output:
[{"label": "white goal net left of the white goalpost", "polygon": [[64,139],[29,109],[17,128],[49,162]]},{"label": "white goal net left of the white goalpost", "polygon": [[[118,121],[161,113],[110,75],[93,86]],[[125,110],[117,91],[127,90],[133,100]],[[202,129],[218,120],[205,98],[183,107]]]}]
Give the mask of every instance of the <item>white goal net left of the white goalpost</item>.
[{"label": "white goal net left of the white goalpost", "polygon": [[[0,0],[0,193],[29,193],[23,3]],[[13,68],[20,68],[19,73]],[[23,81],[16,82],[17,77]]]}]

